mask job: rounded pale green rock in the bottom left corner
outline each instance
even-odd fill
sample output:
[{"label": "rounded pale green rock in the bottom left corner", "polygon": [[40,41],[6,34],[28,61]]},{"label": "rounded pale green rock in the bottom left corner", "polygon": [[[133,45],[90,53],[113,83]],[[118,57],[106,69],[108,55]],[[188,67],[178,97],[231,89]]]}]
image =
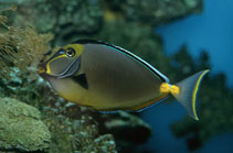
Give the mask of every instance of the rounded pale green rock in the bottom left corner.
[{"label": "rounded pale green rock in the bottom left corner", "polygon": [[36,108],[0,98],[0,150],[42,151],[50,141],[50,131]]}]

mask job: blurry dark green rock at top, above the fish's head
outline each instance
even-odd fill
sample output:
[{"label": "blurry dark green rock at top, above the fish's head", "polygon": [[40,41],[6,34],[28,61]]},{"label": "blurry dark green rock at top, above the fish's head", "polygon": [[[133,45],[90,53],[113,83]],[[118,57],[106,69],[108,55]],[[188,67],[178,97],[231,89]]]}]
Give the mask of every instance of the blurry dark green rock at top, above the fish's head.
[{"label": "blurry dark green rock at top, above the fish's head", "polygon": [[56,44],[68,43],[71,35],[96,33],[103,25],[99,0],[24,0],[18,8],[14,23],[33,23],[40,32],[52,32]]}]

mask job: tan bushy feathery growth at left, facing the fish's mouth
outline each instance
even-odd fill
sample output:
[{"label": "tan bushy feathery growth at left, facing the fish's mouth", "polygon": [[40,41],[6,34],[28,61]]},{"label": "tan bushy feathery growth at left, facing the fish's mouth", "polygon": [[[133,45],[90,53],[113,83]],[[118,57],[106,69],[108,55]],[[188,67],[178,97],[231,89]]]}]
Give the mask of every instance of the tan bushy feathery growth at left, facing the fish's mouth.
[{"label": "tan bushy feathery growth at left, facing the fish's mouth", "polygon": [[6,11],[15,11],[15,7],[0,10],[0,75],[4,78],[11,73],[36,72],[36,65],[43,53],[50,50],[47,45],[53,39],[51,33],[39,34],[34,28],[8,25]]}]

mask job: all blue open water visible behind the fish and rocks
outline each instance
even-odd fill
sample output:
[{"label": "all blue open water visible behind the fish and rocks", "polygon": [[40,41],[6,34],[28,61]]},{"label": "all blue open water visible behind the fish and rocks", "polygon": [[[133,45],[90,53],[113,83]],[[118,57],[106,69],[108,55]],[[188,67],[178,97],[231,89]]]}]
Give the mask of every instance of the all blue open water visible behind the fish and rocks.
[{"label": "all blue open water visible behind the fish and rocks", "polygon": [[[204,50],[211,57],[211,74],[224,73],[229,87],[233,87],[233,0],[204,0],[202,14],[156,29],[165,43],[167,55],[176,53],[187,44],[190,54],[197,58]],[[166,101],[142,112],[142,118],[152,127],[153,134],[142,149],[155,152],[188,152],[186,141],[177,139],[170,131],[170,124],[187,116],[177,102]],[[233,152],[233,133],[216,135],[197,152]]]}]

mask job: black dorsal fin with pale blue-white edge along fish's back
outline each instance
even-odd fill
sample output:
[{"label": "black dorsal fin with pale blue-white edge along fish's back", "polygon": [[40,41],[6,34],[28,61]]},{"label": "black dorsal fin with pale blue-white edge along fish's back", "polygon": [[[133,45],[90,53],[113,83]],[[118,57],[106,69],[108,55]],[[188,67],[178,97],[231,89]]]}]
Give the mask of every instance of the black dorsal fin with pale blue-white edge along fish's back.
[{"label": "black dorsal fin with pale blue-white edge along fish's back", "polygon": [[151,73],[153,73],[156,76],[158,76],[161,81],[169,83],[169,79],[162,73],[160,73],[158,69],[156,69],[153,66],[151,66],[146,61],[141,59],[137,55],[133,54],[131,52],[129,52],[129,51],[127,51],[123,47],[119,47],[119,46],[116,46],[114,44],[109,44],[109,43],[106,43],[106,42],[96,41],[96,40],[88,40],[88,39],[75,41],[73,44],[102,44],[102,45],[106,45],[108,47],[112,47],[116,51],[119,51],[119,52],[126,54],[127,56],[131,57],[133,59],[135,59],[135,61],[139,62],[140,64],[142,64],[144,66],[146,66]]}]

